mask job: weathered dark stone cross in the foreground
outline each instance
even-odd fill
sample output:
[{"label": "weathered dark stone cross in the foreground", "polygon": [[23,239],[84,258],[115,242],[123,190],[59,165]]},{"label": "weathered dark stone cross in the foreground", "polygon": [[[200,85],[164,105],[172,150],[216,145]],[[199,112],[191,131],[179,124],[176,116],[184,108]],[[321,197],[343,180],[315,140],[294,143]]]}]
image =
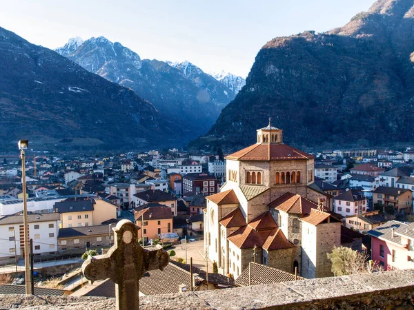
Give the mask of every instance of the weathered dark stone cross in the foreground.
[{"label": "weathered dark stone cross in the foreground", "polygon": [[88,280],[110,278],[115,282],[117,310],[139,309],[139,279],[148,270],[163,270],[170,260],[161,248],[143,249],[138,244],[138,229],[130,220],[120,220],[113,228],[115,245],[107,254],[90,256],[82,265]]}]

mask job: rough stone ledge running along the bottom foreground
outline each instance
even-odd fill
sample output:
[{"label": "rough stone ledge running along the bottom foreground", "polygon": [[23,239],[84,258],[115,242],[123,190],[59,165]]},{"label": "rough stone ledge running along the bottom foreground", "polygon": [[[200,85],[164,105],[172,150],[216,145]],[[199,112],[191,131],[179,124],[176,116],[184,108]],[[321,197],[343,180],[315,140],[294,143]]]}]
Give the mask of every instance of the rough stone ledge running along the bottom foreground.
[{"label": "rough stone ledge running along the bottom foreground", "polygon": [[[414,309],[414,270],[140,298],[141,309]],[[0,296],[1,309],[115,309],[113,298]]]}]

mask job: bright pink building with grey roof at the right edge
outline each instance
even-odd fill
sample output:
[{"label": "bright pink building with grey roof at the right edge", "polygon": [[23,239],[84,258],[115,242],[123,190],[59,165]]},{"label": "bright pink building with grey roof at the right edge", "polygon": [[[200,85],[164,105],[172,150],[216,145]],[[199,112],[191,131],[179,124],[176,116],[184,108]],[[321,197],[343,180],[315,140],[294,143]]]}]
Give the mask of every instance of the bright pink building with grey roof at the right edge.
[{"label": "bright pink building with grey roof at the right edge", "polygon": [[414,268],[414,223],[390,220],[367,234],[372,237],[372,259],[386,270]]}]

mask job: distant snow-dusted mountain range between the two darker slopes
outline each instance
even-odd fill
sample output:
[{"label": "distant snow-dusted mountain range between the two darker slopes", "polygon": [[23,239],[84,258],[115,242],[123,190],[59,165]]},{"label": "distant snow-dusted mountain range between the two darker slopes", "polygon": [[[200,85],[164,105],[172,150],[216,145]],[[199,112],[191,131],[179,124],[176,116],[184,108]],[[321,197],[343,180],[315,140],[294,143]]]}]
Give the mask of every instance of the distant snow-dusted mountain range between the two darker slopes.
[{"label": "distant snow-dusted mountain range between the two darker slopes", "polygon": [[88,39],[75,49],[70,42],[56,51],[150,101],[164,118],[174,121],[183,141],[205,134],[235,98],[226,85],[188,61],[142,60],[136,52],[105,37]]}]

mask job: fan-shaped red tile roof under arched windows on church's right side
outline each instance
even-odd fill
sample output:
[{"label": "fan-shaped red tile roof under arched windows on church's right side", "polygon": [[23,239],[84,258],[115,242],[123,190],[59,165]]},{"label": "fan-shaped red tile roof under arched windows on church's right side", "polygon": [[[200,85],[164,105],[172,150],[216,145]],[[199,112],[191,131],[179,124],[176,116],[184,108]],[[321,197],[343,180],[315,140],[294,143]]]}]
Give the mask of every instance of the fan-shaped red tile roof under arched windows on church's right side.
[{"label": "fan-shaped red tile roof under arched windows on church's right side", "polygon": [[298,194],[286,192],[276,200],[269,203],[269,207],[285,211],[290,214],[306,215],[311,213],[311,209],[317,208],[317,203],[308,200]]}]

